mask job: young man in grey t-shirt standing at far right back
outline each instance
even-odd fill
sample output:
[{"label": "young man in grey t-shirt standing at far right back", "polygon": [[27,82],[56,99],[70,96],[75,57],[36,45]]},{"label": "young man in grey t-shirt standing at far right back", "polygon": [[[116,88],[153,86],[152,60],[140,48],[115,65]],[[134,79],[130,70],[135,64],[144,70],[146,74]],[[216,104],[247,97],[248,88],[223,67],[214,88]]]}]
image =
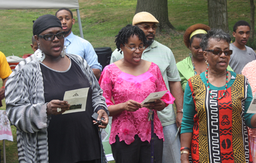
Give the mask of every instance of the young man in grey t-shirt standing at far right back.
[{"label": "young man in grey t-shirt standing at far right back", "polygon": [[250,37],[250,29],[250,24],[245,20],[238,21],[233,27],[233,36],[236,38],[236,41],[229,46],[229,49],[233,50],[233,54],[230,55],[229,66],[237,74],[241,74],[243,67],[256,59],[253,49],[246,46]]}]

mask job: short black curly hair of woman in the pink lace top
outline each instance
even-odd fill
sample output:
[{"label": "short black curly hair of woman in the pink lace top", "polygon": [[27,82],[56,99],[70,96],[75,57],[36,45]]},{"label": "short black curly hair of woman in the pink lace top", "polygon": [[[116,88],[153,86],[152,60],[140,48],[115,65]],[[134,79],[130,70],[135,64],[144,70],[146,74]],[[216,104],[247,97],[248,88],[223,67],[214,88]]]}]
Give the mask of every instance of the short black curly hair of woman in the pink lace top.
[{"label": "short black curly hair of woman in the pink lace top", "polygon": [[[127,44],[128,38],[134,35],[138,36],[139,40],[141,40],[143,45],[146,46],[147,38],[145,33],[136,25],[128,24],[118,32],[117,36],[115,36],[115,45],[117,45],[118,52],[121,50],[120,45]],[[120,53],[122,53],[122,51]]]}]

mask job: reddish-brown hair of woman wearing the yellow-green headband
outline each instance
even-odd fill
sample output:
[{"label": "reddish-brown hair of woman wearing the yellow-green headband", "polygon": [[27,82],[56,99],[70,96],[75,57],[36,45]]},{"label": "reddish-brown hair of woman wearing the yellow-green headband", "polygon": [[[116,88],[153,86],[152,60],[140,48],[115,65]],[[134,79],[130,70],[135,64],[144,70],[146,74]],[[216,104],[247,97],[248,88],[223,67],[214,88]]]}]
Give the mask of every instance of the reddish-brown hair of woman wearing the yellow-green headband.
[{"label": "reddish-brown hair of woman wearing the yellow-green headband", "polygon": [[189,39],[191,33],[196,31],[197,29],[204,29],[204,31],[209,31],[210,27],[205,24],[194,24],[194,25],[191,25],[190,27],[188,27],[188,29],[185,31],[185,33],[183,35],[184,44],[185,44],[185,46],[187,46],[187,48],[189,48],[189,45],[192,44],[193,38],[195,38],[195,37],[202,38],[204,36],[204,34],[197,34],[197,35],[194,35],[193,37],[191,37],[191,39]]}]

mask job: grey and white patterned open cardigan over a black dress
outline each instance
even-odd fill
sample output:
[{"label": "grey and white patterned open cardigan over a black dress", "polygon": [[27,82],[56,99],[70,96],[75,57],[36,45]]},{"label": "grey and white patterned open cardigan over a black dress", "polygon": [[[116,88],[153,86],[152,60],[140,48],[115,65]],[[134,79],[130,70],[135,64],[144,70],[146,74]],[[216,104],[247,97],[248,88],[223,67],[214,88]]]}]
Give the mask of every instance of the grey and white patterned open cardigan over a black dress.
[{"label": "grey and white patterned open cardigan over a black dress", "polygon": [[[77,63],[92,87],[94,111],[101,106],[109,114],[102,89],[92,69],[78,55],[67,54]],[[6,112],[17,130],[19,162],[48,162],[47,117],[43,76],[34,55],[16,66],[6,83]],[[75,80],[75,79],[74,79]],[[104,161],[105,162],[105,161]]]}]

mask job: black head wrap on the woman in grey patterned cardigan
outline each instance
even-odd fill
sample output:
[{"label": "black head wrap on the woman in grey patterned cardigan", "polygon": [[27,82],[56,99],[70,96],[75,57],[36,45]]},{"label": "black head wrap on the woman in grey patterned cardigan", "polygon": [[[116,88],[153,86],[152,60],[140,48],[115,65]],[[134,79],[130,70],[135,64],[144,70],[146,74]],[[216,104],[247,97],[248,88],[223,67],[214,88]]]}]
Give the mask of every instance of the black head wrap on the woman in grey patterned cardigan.
[{"label": "black head wrap on the woman in grey patterned cardigan", "polygon": [[60,20],[54,15],[43,15],[35,20],[33,24],[33,35],[39,35],[48,28],[61,27]]}]

